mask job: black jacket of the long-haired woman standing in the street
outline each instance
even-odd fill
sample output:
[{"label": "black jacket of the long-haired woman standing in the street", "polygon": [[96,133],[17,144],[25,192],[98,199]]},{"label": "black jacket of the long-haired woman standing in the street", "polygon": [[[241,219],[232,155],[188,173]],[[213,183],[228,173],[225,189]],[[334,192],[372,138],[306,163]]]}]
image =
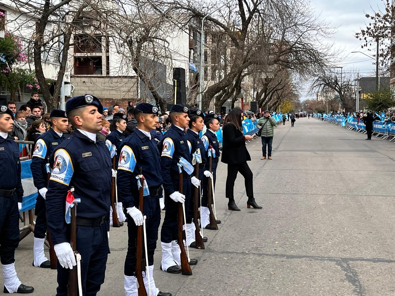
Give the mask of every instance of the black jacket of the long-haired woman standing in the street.
[{"label": "black jacket of the long-haired woman standing in the street", "polygon": [[251,160],[243,133],[234,124],[228,123],[222,127],[222,139],[223,163],[239,164]]}]

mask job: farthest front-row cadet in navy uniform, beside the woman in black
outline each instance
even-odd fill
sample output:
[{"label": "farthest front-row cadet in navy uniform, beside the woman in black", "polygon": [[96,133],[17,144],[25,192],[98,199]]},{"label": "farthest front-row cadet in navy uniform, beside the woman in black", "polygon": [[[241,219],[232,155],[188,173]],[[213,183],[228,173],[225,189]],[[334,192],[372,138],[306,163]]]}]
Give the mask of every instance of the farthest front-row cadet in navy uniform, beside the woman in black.
[{"label": "farthest front-row cadet in navy uniform, beside the woman in black", "polygon": [[[209,208],[207,207],[207,186],[208,186],[208,178],[212,178],[212,182],[214,184],[215,188],[215,180],[216,180],[216,170],[218,166],[218,160],[220,157],[220,149],[218,146],[218,139],[216,136],[216,131],[219,130],[220,128],[220,121],[219,117],[217,114],[207,114],[204,118],[204,124],[207,127],[207,131],[204,133],[204,135],[201,137],[201,141],[203,142],[205,146],[205,156],[207,159],[206,165],[204,167],[204,177],[203,177],[203,195],[201,198],[201,227],[204,227],[205,229],[210,229],[210,212]],[[209,147],[212,146],[215,151],[215,157],[213,154],[212,160],[211,160],[211,172],[209,171],[210,163],[209,163],[209,155],[208,155],[208,149]],[[214,193],[214,192],[213,192]],[[220,224],[220,220],[216,220],[217,224]]]}]

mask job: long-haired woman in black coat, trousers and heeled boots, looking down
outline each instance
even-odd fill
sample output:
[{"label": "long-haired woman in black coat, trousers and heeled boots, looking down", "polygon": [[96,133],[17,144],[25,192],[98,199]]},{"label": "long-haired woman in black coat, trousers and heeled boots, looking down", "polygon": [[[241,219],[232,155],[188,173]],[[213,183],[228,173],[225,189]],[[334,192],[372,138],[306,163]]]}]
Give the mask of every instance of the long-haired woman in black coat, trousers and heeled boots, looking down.
[{"label": "long-haired woman in black coat, trousers and heeled boots, looking down", "polygon": [[229,199],[228,209],[232,211],[240,211],[233,196],[233,187],[235,186],[237,172],[240,172],[244,177],[248,197],[247,208],[250,208],[250,206],[254,209],[262,208],[256,204],[254,199],[252,172],[247,164],[247,161],[250,161],[251,157],[245,143],[245,141],[251,140],[252,137],[243,135],[242,116],[243,111],[239,108],[234,108],[226,116],[224,126],[222,127],[223,145],[221,161],[228,164],[225,195]]}]

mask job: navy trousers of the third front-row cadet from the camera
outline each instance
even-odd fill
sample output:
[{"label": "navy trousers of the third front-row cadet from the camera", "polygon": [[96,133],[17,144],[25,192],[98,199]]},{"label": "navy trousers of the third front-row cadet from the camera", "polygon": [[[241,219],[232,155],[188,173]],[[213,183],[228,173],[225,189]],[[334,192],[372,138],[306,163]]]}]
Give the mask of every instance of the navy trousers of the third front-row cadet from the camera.
[{"label": "navy trousers of the third front-row cadet from the camera", "polygon": [[[179,188],[179,179],[171,178],[174,188]],[[191,195],[191,179],[182,179],[182,193],[185,195],[185,212],[188,211],[190,195]],[[163,220],[162,229],[160,231],[160,241],[170,243],[178,240],[178,206],[179,202],[175,202],[165,191],[166,213]],[[186,214],[186,213],[185,213]]]}]

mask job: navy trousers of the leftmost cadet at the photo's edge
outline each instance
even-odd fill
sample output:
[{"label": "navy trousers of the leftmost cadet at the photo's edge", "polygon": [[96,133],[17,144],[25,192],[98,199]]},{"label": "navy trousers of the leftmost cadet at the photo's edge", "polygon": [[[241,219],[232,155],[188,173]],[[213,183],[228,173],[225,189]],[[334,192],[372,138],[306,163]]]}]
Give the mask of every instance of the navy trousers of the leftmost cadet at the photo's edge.
[{"label": "navy trousers of the leftmost cadet at the photo's edge", "polygon": [[18,199],[0,196],[0,261],[3,265],[15,262],[15,249],[19,245]]}]

